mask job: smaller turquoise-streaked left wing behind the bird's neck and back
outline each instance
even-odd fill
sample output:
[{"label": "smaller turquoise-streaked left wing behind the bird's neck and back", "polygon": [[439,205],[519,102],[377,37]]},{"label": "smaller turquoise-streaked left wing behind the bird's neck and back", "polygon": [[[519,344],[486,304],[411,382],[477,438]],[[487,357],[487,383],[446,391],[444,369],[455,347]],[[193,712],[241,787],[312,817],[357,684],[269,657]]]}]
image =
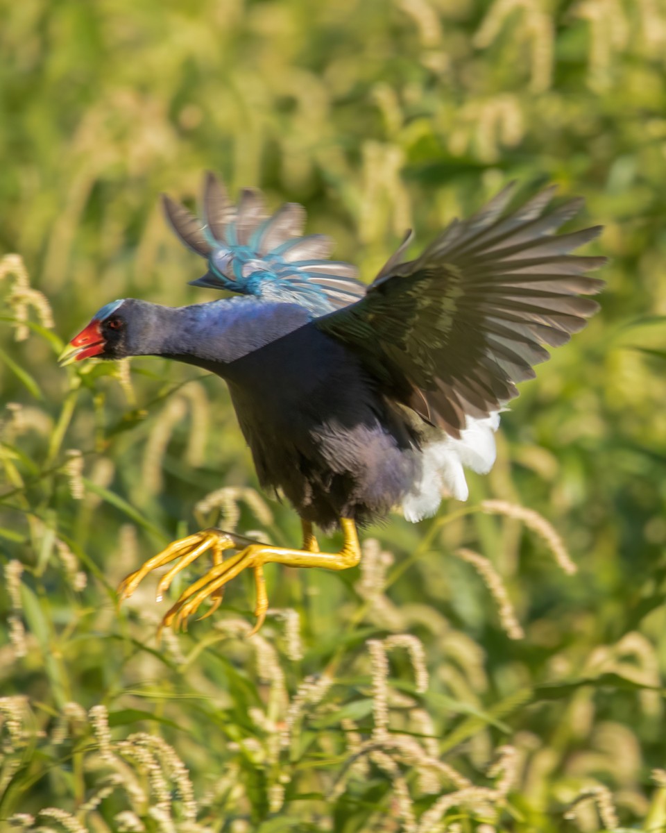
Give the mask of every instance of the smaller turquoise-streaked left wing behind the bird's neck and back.
[{"label": "smaller turquoise-streaked left wing behind the bird's neck and back", "polygon": [[176,236],[208,262],[208,272],[191,281],[196,287],[298,303],[315,315],[365,295],[355,267],[328,260],[330,237],[302,236],[306,212],[297,202],[287,202],[269,217],[261,192],[245,188],[235,206],[208,172],[201,220],[171,197],[164,195],[162,204]]}]

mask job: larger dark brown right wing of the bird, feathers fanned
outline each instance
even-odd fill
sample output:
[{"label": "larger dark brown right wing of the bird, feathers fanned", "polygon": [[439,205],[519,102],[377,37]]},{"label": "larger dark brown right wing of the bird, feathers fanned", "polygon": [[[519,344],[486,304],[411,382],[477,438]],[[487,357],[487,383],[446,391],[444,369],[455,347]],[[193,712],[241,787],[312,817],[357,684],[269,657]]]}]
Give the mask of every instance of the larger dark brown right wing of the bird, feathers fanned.
[{"label": "larger dark brown right wing of the bird, feathers fanned", "polygon": [[466,417],[484,417],[518,395],[599,305],[581,295],[604,282],[585,272],[604,257],[570,255],[601,227],[554,235],[579,211],[574,199],[544,213],[554,187],[505,213],[513,186],[475,217],[454,221],[410,262],[409,238],[364,298],[316,326],[357,352],[390,395],[460,436]]}]

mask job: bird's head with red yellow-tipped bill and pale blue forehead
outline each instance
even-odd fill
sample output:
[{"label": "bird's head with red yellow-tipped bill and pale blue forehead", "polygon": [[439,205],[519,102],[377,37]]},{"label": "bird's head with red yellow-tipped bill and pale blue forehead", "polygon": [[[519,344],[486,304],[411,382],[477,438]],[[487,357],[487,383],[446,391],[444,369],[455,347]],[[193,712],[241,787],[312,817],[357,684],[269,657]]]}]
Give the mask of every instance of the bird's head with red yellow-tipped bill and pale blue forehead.
[{"label": "bird's head with red yellow-tipped bill and pale blue forehead", "polygon": [[134,312],[132,299],[122,298],[102,307],[62,351],[58,358],[61,367],[93,356],[101,359],[131,356]]}]

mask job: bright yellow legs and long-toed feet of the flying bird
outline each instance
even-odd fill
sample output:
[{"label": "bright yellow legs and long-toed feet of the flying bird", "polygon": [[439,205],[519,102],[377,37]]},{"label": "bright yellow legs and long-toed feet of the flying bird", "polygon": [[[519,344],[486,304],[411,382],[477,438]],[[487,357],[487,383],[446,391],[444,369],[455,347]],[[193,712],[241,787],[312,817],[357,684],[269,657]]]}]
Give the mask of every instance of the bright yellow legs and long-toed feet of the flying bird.
[{"label": "bright yellow legs and long-toed feet of the flying bird", "polygon": [[[232,532],[224,532],[218,529],[207,529],[196,532],[194,535],[182,538],[181,541],[174,541],[165,550],[153,556],[136,572],[127,576],[118,587],[118,594],[121,598],[127,599],[137,589],[139,583],[157,567],[181,558],[176,566],[171,567],[159,584],[157,585],[157,598],[162,595],[171,585],[174,577],[188,564],[195,561],[207,550],[212,552],[213,566],[204,576],[194,584],[187,587],[181,593],[176,603],[171,606],[162,619],[160,631],[163,627],[174,627],[175,629],[186,628],[186,622],[193,616],[201,604],[210,599],[211,608],[201,616],[211,616],[220,606],[222,593],[226,584],[232,578],[238,576],[243,570],[250,568],[254,573],[256,587],[255,616],[256,623],[248,636],[259,630],[266,619],[268,610],[268,596],[266,594],[266,581],[264,579],[264,565],[270,563],[284,564],[292,567],[327,567],[330,570],[344,570],[347,567],[355,566],[360,560],[360,546],[354,521],[342,518],[340,521],[345,536],[344,544],[339,552],[320,552],[316,538],[312,534],[311,526],[303,524],[304,548],[302,550],[290,549],[282,546],[270,546],[252,541],[250,538],[238,536]],[[223,554],[226,550],[237,550],[226,560]]]}]

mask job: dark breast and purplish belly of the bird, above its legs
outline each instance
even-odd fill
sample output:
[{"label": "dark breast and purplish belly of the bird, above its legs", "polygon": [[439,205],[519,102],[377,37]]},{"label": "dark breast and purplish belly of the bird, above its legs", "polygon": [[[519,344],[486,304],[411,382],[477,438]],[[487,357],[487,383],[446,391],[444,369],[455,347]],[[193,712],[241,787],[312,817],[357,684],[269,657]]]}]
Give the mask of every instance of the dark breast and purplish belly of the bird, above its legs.
[{"label": "dark breast and purplish belly of the bird, above its legs", "polygon": [[384,514],[415,476],[404,426],[344,347],[316,331],[280,342],[244,357],[229,379],[262,486],[321,526]]}]

